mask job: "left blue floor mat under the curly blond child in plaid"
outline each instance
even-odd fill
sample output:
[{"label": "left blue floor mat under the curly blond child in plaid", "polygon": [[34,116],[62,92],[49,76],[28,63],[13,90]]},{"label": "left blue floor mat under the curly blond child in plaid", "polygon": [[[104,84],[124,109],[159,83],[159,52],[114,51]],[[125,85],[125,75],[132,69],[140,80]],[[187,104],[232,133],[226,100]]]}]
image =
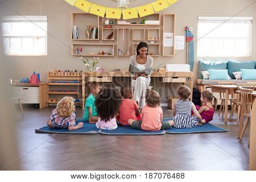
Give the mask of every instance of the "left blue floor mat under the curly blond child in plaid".
[{"label": "left blue floor mat under the curly blond child in plaid", "polygon": [[[80,119],[76,119],[76,123],[82,122]],[[40,133],[60,133],[60,134],[98,134],[99,129],[94,124],[84,122],[84,127],[78,130],[69,131],[68,129],[49,129],[47,126],[40,129],[35,129],[36,132]]]}]

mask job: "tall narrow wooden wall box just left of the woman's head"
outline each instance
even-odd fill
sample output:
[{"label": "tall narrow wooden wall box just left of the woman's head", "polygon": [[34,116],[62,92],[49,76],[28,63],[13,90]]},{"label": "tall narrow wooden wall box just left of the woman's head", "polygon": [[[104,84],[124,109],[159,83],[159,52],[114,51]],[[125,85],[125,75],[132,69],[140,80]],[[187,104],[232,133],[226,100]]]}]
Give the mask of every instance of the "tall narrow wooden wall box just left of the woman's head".
[{"label": "tall narrow wooden wall box just left of the woman's head", "polygon": [[[118,49],[122,54],[118,53]],[[117,55],[130,56],[130,28],[117,28]]]}]

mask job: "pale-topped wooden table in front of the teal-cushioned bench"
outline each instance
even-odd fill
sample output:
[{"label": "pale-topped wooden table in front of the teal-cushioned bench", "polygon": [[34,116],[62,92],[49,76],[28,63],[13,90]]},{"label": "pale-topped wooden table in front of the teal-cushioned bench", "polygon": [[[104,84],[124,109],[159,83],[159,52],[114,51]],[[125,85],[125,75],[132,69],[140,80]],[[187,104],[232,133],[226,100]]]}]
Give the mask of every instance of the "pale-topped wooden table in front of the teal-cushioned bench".
[{"label": "pale-topped wooden table in front of the teal-cushioned bench", "polygon": [[209,85],[212,88],[212,92],[225,93],[225,113],[224,121],[228,121],[228,98],[230,94],[234,94],[237,90],[237,85]]}]

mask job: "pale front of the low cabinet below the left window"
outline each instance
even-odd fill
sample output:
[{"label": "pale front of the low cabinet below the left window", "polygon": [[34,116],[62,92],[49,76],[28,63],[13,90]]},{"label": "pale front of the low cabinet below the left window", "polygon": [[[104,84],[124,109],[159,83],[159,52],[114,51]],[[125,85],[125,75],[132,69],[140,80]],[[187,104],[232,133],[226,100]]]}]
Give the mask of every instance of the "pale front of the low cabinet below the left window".
[{"label": "pale front of the low cabinet below the left window", "polygon": [[13,97],[21,97],[22,104],[39,104],[38,86],[13,86]]}]

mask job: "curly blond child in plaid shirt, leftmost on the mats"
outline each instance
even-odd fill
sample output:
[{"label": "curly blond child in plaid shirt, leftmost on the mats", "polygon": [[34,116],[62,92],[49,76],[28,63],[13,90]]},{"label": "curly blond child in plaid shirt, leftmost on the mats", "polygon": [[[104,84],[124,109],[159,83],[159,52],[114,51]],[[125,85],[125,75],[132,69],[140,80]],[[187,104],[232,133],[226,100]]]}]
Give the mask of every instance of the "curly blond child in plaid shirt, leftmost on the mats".
[{"label": "curly blond child in plaid shirt, leftmost on the mats", "polygon": [[75,99],[73,97],[64,97],[57,104],[56,109],[52,111],[52,114],[47,121],[47,125],[50,129],[68,128],[68,130],[80,129],[84,123],[79,122],[76,126],[76,114],[75,111]]}]

